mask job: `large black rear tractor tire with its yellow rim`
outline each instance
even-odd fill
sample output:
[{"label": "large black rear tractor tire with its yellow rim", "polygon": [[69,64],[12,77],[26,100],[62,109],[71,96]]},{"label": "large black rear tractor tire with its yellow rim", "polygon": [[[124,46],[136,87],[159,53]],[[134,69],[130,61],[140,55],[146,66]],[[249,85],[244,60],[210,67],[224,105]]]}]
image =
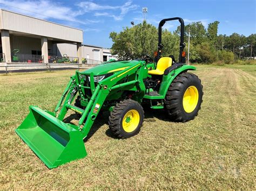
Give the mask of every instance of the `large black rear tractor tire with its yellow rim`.
[{"label": "large black rear tractor tire with its yellow rim", "polygon": [[173,80],[164,104],[174,122],[187,122],[198,115],[203,102],[203,85],[197,75],[184,72]]}]

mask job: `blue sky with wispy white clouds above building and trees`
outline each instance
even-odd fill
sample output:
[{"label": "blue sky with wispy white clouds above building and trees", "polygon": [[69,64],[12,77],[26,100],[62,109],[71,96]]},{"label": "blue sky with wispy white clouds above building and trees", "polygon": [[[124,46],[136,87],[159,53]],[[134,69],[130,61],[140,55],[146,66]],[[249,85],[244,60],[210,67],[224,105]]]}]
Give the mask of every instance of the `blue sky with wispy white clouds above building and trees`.
[{"label": "blue sky with wispy white clouds above building and trees", "polygon": [[[83,30],[84,44],[111,48],[111,31],[120,32],[144,19],[143,7],[147,7],[146,20],[155,26],[161,19],[181,17],[185,24],[218,20],[218,34],[234,32],[249,36],[256,33],[256,0],[0,0],[0,9],[49,20]],[[178,22],[164,27],[177,29]]]}]

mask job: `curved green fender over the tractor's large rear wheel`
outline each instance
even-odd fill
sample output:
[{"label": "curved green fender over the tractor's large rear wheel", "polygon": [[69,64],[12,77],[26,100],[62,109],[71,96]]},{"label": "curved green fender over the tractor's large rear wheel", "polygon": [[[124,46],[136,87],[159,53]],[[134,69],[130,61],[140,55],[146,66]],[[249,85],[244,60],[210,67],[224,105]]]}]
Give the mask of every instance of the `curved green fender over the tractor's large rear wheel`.
[{"label": "curved green fender over the tractor's large rear wheel", "polygon": [[186,72],[187,70],[196,70],[196,67],[189,66],[189,65],[178,65],[178,67],[170,68],[169,71],[167,71],[167,72],[165,71],[165,74],[164,74],[164,77],[163,77],[163,81],[161,83],[161,86],[160,86],[160,89],[159,89],[158,93],[165,97],[165,95],[166,95],[166,93],[167,93],[167,91],[168,91],[172,81],[180,73]]}]

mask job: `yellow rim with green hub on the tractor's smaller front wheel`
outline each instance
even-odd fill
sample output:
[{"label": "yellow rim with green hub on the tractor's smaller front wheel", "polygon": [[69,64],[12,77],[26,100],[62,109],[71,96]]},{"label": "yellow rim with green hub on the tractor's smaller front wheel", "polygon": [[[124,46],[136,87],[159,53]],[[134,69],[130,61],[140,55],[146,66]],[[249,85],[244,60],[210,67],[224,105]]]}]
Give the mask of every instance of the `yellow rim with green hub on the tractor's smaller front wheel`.
[{"label": "yellow rim with green hub on the tractor's smaller front wheel", "polygon": [[139,112],[137,110],[132,109],[128,111],[123,118],[123,129],[128,133],[134,131],[139,125],[139,119]]}]

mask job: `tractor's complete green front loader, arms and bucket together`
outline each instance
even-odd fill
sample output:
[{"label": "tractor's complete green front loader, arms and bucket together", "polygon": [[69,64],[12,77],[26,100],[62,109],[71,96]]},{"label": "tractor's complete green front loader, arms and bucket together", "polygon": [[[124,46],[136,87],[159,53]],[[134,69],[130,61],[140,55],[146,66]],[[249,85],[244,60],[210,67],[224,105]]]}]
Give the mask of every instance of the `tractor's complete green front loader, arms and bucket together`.
[{"label": "tractor's complete green front loader, arms and bucket together", "polygon": [[[133,91],[145,93],[143,77],[141,77],[143,75],[140,75],[147,72],[147,68],[144,65],[144,61],[136,62],[134,65],[100,81],[96,87],[93,73],[90,74],[91,86],[86,87],[80,83],[80,75],[83,74],[77,71],[76,75],[71,77],[68,86],[66,86],[55,111],[50,112],[30,106],[29,115],[15,130],[16,133],[49,168],[55,168],[66,162],[84,158],[87,153],[83,139],[88,135],[106,97],[111,91],[118,91],[132,85],[135,87],[132,88]],[[133,79],[118,83],[132,74],[134,76]],[[79,93],[80,96],[84,96],[85,89],[91,89],[92,91],[92,96],[89,98],[85,109],[72,105],[76,94]],[[78,125],[63,122],[69,109],[82,115]]]}]

